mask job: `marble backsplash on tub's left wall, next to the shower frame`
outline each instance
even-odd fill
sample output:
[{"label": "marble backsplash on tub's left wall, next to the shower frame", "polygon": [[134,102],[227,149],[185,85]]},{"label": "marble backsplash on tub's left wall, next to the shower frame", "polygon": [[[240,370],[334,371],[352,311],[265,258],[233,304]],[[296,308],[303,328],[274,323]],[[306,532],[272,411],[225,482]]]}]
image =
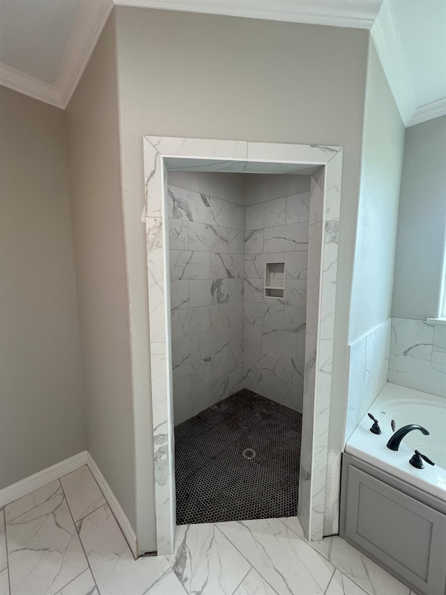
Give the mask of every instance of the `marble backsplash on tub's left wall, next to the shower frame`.
[{"label": "marble backsplash on tub's left wall, next to the shower frame", "polygon": [[383,324],[348,345],[350,369],[346,440],[387,382],[391,331],[392,319],[387,318]]}]

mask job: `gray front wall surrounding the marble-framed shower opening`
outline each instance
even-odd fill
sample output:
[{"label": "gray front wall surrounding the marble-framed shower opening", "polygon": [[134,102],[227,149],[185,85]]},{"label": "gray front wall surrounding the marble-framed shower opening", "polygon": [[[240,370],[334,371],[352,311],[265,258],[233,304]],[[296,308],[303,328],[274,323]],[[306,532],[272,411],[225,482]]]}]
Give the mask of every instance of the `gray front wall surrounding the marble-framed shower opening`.
[{"label": "gray front wall surrounding the marble-framed shower opening", "polygon": [[[369,33],[121,6],[115,13],[135,416],[150,399],[143,135],[344,146],[332,399],[345,410]],[[358,326],[369,329],[367,315]],[[150,457],[147,467],[153,476]],[[153,506],[145,510],[154,519]]]}]

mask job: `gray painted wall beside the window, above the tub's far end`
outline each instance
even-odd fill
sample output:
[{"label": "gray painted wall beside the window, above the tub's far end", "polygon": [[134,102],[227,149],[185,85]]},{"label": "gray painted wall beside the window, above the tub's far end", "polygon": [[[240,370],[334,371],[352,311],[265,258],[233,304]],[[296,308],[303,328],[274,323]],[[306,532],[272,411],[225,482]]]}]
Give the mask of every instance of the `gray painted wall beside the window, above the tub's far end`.
[{"label": "gray painted wall beside the window, above the tub's far end", "polygon": [[406,130],[392,316],[437,317],[446,244],[446,116]]}]

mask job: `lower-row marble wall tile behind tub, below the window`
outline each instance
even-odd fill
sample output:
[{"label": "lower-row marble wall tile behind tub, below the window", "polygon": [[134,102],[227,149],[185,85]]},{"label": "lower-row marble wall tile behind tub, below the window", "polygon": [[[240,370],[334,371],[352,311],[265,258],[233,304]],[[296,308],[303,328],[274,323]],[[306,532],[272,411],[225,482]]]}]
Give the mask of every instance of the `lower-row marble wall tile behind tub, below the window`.
[{"label": "lower-row marble wall tile behind tub, below the window", "polygon": [[391,353],[389,382],[446,398],[446,363]]}]

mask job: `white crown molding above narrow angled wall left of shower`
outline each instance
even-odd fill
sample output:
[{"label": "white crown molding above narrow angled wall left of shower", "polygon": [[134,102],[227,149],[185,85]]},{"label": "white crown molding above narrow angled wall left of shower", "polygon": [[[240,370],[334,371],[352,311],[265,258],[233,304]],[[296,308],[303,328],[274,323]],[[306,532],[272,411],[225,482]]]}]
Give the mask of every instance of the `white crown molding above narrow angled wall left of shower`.
[{"label": "white crown molding above narrow angled wall left of shower", "polygon": [[79,6],[55,84],[63,110],[84,74],[113,6],[113,0],[82,0]]}]

